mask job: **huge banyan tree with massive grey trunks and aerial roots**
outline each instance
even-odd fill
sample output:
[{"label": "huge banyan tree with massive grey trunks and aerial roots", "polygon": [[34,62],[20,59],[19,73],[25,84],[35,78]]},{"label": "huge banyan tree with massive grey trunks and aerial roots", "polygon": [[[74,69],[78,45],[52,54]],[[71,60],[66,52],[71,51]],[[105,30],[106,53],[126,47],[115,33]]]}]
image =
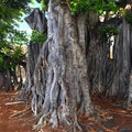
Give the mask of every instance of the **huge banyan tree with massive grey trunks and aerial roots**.
[{"label": "huge banyan tree with massive grey trunks and aerial roots", "polygon": [[[125,107],[132,106],[131,4],[121,12],[118,9],[131,1],[103,1],[98,7],[108,7],[102,9],[103,21],[94,10],[98,0],[86,1],[48,0],[47,19],[38,9],[25,18],[32,30],[47,35],[43,45],[31,40],[22,89],[40,119],[35,129],[48,119],[53,128],[63,122],[73,131],[82,131],[78,111],[86,116],[96,112],[90,94],[120,97]],[[114,15],[111,4],[118,7]]]}]

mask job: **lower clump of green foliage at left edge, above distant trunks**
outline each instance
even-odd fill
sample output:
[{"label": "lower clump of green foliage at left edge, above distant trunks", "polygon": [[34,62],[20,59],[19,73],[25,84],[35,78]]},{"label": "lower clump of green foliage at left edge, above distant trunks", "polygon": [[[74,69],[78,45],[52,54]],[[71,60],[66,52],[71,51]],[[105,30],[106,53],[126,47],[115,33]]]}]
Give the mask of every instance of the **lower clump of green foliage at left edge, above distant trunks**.
[{"label": "lower clump of green foliage at left edge, above distant trunks", "polygon": [[23,52],[22,44],[1,43],[0,45],[0,69],[6,70],[8,68],[14,68],[20,62],[24,62],[25,52]]}]

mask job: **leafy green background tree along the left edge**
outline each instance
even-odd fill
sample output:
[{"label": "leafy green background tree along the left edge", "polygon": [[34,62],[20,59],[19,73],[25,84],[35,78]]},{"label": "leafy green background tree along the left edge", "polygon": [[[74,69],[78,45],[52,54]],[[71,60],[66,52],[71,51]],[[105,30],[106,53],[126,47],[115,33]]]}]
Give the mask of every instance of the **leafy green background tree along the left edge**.
[{"label": "leafy green background tree along the left edge", "polygon": [[0,1],[0,74],[6,82],[7,91],[16,85],[15,67],[25,67],[25,54],[22,44],[28,44],[24,32],[16,30],[16,21],[21,21],[24,12],[29,11],[30,0],[1,0]]}]

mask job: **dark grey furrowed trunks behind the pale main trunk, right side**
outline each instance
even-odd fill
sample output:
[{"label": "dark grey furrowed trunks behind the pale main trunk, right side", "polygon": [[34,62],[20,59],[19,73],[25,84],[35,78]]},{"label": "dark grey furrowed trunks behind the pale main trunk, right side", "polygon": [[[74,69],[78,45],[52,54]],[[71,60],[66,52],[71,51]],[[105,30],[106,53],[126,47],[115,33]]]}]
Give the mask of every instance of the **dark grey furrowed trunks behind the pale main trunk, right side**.
[{"label": "dark grey furrowed trunks behind the pale main trunk, right side", "polygon": [[[117,97],[127,99],[131,95],[132,28],[125,20],[119,22],[118,20],[114,22],[114,20],[105,24],[117,26],[119,33],[112,36],[112,40],[109,37],[107,42],[103,42],[103,35],[101,35],[102,41],[100,42],[100,35],[91,32],[87,57],[88,73],[92,92],[101,92],[114,99]],[[113,58],[110,58],[110,45],[112,43]]]}]

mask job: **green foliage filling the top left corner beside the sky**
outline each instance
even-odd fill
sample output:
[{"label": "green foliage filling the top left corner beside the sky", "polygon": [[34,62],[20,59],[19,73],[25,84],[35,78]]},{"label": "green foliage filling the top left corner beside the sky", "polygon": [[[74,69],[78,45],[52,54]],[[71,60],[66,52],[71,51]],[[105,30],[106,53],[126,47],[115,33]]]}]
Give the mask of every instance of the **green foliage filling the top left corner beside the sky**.
[{"label": "green foliage filling the top left corner beside the sky", "polygon": [[30,0],[2,0],[0,2],[0,40],[9,40],[9,35],[16,35],[14,28],[18,25],[16,21],[21,21],[23,12],[29,10],[28,2]]}]

